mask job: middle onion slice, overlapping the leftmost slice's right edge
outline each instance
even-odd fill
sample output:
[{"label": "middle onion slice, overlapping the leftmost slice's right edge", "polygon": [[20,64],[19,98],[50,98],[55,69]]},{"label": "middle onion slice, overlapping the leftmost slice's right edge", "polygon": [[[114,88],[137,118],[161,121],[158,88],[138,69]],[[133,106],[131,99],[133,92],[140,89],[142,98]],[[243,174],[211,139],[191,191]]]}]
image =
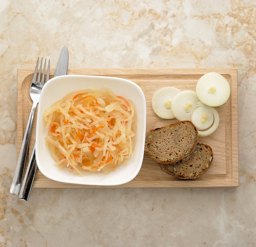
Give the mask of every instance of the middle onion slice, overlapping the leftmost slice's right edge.
[{"label": "middle onion slice, overlapping the leftmost slice's right edge", "polygon": [[194,91],[184,90],[177,93],[172,100],[171,109],[177,120],[191,120],[191,115],[199,102],[198,96]]}]

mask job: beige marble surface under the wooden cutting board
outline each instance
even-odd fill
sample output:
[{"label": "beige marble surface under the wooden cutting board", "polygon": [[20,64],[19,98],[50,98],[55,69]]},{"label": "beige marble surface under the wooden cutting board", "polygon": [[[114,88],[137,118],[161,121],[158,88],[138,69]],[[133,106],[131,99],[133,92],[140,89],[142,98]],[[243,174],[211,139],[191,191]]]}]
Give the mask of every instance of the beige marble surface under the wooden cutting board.
[{"label": "beige marble surface under the wooden cutting board", "polygon": [[[0,246],[255,246],[254,0],[2,0]],[[38,56],[70,68],[236,67],[238,188],[33,189],[16,166],[17,69]]]}]

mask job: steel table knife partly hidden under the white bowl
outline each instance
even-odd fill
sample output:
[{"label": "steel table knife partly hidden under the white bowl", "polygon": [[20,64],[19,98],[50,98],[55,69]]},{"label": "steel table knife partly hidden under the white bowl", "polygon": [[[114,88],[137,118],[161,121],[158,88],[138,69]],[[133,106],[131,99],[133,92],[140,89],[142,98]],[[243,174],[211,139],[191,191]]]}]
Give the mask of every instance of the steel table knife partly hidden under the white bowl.
[{"label": "steel table knife partly hidden under the white bowl", "polygon": [[[68,67],[68,50],[67,47],[64,46],[61,50],[61,54],[58,58],[57,66],[54,72],[55,76],[63,76],[67,74]],[[30,191],[33,185],[33,181],[36,174],[37,164],[36,164],[36,145],[34,145],[29,163],[27,165],[27,170],[20,187],[19,199],[23,201],[29,200]]]}]

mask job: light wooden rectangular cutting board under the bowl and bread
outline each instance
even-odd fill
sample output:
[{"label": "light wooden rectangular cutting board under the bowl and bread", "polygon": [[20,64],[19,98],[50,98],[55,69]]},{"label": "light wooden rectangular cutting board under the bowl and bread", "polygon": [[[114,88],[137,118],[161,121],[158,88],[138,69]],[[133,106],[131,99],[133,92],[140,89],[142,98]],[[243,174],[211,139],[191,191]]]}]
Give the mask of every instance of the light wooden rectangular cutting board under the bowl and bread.
[{"label": "light wooden rectangular cutting board under the bowl and bread", "polygon": [[[68,69],[68,74],[114,76],[137,83],[144,91],[147,104],[146,130],[169,125],[177,120],[159,118],[151,107],[153,93],[167,86],[180,90],[195,90],[198,79],[205,73],[218,72],[224,76],[231,86],[231,96],[222,106],[216,107],[220,115],[220,125],[214,134],[199,138],[199,142],[208,144],[213,149],[214,159],[211,167],[196,180],[178,180],[162,171],[158,164],[148,155],[139,174],[130,182],[115,187],[237,187],[238,186],[238,99],[237,69]],[[53,77],[54,70],[50,71]],[[17,123],[17,156],[20,152],[22,138],[31,109],[29,89],[34,70],[18,70],[18,123]],[[31,154],[36,136],[36,115],[29,142],[27,162]],[[27,165],[27,164],[26,164]],[[97,187],[74,185],[56,182],[36,172],[34,187]]]}]

